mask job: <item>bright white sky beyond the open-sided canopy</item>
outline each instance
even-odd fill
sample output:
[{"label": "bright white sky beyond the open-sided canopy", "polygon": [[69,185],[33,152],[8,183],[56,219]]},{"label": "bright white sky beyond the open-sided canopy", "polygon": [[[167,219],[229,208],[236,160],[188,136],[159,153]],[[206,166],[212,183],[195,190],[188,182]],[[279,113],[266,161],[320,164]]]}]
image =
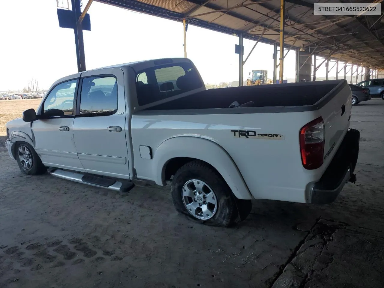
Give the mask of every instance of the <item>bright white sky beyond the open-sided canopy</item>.
[{"label": "bright white sky beyond the open-sided canopy", "polygon": [[[84,6],[86,2],[83,0]],[[184,57],[182,22],[99,2],[93,2],[88,13],[91,31],[83,32],[87,70],[138,60]],[[74,31],[59,27],[56,0],[0,0],[0,27],[0,91],[21,90],[31,79],[38,79],[39,88],[48,89],[57,79],[77,73]],[[244,58],[254,43],[244,40]],[[205,83],[238,81],[235,44],[236,36],[188,26],[187,58]],[[243,67],[244,79],[252,70],[262,69],[273,78],[272,53],[272,45],[258,43]],[[291,50],[285,58],[285,79],[295,78],[295,57],[296,52]],[[325,76],[324,66],[317,76]]]}]

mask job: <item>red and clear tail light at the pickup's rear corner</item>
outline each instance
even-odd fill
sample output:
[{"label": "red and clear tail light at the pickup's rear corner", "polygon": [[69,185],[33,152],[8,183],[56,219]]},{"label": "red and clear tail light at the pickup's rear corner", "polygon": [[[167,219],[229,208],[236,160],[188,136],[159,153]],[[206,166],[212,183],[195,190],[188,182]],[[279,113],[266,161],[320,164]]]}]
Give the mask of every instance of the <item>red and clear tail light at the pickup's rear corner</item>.
[{"label": "red and clear tail light at the pickup's rear corner", "polygon": [[303,167],[308,170],[323,165],[324,122],[319,117],[300,129],[300,152]]}]

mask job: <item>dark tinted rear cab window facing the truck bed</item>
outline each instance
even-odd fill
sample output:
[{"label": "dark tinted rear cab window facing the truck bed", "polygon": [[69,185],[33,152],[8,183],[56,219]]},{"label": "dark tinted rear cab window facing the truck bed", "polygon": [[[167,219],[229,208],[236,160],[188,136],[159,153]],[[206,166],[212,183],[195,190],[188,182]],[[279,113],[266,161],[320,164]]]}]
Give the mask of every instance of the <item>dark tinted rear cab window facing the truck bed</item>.
[{"label": "dark tinted rear cab window facing the truck bed", "polygon": [[137,73],[137,102],[143,106],[202,86],[200,76],[191,63],[155,66]]}]

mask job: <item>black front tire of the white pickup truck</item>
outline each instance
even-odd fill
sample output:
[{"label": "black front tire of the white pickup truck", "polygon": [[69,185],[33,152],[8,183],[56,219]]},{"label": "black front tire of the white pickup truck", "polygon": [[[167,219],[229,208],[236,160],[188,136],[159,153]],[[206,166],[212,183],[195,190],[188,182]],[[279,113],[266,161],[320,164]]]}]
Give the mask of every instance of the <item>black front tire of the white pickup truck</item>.
[{"label": "black front tire of the white pickup truck", "polygon": [[[28,151],[28,153],[26,154],[29,154],[30,156],[26,156],[26,157],[28,157],[28,162],[29,160],[31,161],[30,165],[27,165],[26,161],[22,160],[22,159],[26,159],[26,157],[20,157],[23,154],[23,152],[20,151],[20,149],[23,151]],[[40,157],[36,154],[35,149],[33,149],[33,147],[26,142],[17,143],[15,147],[15,158],[20,168],[20,171],[26,175],[40,175],[40,174],[44,174],[47,170],[47,168],[41,162]]]}]

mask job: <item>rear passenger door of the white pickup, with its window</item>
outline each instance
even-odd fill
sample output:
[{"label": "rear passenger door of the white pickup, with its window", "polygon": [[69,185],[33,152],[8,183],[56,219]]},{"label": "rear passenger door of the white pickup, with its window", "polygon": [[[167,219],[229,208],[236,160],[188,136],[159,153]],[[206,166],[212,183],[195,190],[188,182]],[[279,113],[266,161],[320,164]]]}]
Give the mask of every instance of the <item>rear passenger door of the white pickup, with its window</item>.
[{"label": "rear passenger door of the white pickup, with its window", "polygon": [[94,73],[81,74],[73,124],[77,155],[88,173],[129,179],[124,74],[119,68]]}]

